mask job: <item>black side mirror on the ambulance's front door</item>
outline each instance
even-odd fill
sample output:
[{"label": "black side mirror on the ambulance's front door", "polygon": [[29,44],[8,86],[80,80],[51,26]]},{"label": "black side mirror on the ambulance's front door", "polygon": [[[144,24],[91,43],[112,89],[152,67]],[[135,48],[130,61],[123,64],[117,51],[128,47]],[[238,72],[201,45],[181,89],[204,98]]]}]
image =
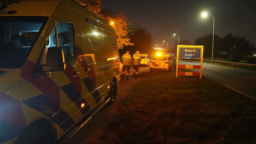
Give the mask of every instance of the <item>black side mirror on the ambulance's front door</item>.
[{"label": "black side mirror on the ambulance's front door", "polygon": [[42,65],[43,72],[54,72],[65,69],[64,54],[60,47],[50,47],[46,54],[46,65]]}]

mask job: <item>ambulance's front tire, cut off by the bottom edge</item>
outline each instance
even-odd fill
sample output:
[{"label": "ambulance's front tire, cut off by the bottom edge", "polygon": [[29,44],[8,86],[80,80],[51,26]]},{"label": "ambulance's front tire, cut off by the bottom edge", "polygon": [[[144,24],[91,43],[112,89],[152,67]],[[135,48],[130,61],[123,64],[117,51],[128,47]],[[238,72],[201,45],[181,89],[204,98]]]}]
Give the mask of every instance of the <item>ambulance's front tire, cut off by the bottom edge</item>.
[{"label": "ambulance's front tire, cut off by the bottom edge", "polygon": [[21,134],[15,144],[53,144],[50,135],[42,128],[28,128]]}]

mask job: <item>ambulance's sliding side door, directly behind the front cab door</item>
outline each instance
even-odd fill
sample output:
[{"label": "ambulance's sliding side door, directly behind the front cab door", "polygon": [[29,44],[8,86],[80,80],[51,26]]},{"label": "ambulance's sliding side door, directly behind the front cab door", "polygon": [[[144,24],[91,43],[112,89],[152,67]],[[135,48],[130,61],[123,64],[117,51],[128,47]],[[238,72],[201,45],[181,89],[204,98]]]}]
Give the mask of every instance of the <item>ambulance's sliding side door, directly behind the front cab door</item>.
[{"label": "ambulance's sliding side door, directly behind the front cab door", "polygon": [[[87,22],[78,22],[77,52],[81,62],[82,97],[86,100],[86,109],[92,110],[101,100],[104,67],[104,50],[102,50],[102,34]],[[100,87],[100,88],[99,88]]]}]

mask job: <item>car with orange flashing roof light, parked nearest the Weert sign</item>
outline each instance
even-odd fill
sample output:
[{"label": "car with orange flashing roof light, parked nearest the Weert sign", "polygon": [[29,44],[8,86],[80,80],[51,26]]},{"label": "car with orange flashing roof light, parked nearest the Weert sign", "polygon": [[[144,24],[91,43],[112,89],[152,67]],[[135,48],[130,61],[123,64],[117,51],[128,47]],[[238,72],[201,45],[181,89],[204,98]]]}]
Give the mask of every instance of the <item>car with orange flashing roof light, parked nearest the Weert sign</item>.
[{"label": "car with orange flashing roof light, parked nearest the Weert sign", "polygon": [[172,70],[176,67],[176,60],[169,55],[154,56],[150,62],[150,71],[156,69]]}]

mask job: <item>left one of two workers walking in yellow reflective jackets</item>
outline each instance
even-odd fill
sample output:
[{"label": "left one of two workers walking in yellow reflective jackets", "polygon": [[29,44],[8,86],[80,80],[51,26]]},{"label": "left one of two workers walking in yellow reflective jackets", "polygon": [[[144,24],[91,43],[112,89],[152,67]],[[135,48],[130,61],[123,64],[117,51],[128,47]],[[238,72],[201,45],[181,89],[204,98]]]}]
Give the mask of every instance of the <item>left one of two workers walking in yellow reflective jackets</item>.
[{"label": "left one of two workers walking in yellow reflective jackets", "polygon": [[129,53],[130,53],[130,51],[127,50],[126,53],[121,58],[121,60],[123,61],[122,80],[124,80],[124,74],[125,74],[126,67],[127,67],[126,79],[127,80],[129,79],[129,73],[130,73],[131,61],[132,61],[132,56]]}]

